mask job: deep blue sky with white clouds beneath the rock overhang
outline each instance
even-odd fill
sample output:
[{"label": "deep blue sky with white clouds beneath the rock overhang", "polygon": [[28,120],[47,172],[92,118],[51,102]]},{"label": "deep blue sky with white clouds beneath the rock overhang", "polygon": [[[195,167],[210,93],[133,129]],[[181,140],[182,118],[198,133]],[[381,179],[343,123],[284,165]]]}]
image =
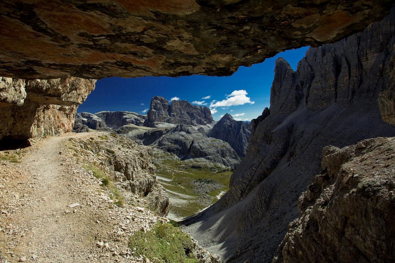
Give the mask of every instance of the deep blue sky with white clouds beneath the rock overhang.
[{"label": "deep blue sky with white clouds beneath the rock overhang", "polygon": [[[101,79],[87,100],[79,106],[78,112],[134,111],[144,114],[153,96],[163,96],[167,100],[177,97],[189,102],[207,103],[208,107],[211,105],[211,109],[216,110],[214,120],[219,120],[225,113],[237,120],[251,120],[269,107],[276,58],[284,57],[295,70],[307,49],[302,47],[278,53],[260,64],[242,66],[229,77],[192,75]],[[203,99],[208,96],[210,98]],[[233,105],[240,103],[244,104]]]}]

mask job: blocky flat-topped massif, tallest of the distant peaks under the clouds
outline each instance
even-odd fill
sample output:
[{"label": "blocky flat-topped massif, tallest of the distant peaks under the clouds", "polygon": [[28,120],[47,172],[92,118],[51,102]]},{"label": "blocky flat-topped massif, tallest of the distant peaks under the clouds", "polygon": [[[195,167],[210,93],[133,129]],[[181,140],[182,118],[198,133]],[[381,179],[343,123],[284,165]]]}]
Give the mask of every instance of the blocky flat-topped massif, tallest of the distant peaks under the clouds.
[{"label": "blocky flat-topped massif, tallest of the distant peaks under the clouds", "polygon": [[208,125],[213,122],[213,116],[208,107],[195,106],[186,100],[173,100],[171,105],[163,97],[151,99],[144,126],[158,127],[167,124]]}]

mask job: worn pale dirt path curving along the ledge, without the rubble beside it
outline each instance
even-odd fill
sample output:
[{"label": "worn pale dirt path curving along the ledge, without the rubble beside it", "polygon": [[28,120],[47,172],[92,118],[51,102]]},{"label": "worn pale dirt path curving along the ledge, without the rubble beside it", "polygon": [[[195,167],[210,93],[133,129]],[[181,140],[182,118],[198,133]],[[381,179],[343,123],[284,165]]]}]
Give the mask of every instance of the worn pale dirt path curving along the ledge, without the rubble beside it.
[{"label": "worn pale dirt path curving along the ledge, without the rubble beside it", "polygon": [[[6,230],[15,237],[7,240],[11,250],[6,253],[14,256],[8,261],[24,257],[26,261],[80,261],[94,243],[94,233],[104,230],[95,229],[95,215],[84,205],[87,194],[97,186],[86,189],[63,163],[66,141],[83,136],[74,133],[43,139],[16,164],[17,171],[11,167],[9,172],[21,173],[15,175],[17,184],[6,190],[14,197],[8,202],[9,211],[2,210],[2,216],[10,219]],[[72,203],[80,205],[69,208]]]}]

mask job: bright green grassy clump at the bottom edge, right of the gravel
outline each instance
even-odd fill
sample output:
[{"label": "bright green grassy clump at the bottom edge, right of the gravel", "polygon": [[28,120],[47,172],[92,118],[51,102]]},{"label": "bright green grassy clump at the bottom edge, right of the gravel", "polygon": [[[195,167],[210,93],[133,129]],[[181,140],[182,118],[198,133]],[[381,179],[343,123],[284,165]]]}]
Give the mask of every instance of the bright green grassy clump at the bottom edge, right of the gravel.
[{"label": "bright green grassy clump at the bottom edge, right of the gravel", "polygon": [[157,223],[151,231],[137,231],[129,238],[130,249],[135,255],[145,255],[153,262],[197,263],[192,253],[193,243],[186,233],[171,224]]}]

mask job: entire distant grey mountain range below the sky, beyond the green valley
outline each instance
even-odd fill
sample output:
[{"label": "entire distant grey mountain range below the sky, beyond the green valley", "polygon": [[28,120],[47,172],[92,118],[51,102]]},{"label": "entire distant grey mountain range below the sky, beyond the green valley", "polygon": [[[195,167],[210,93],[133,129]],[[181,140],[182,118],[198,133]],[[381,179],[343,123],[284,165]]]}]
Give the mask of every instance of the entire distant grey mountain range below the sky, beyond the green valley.
[{"label": "entire distant grey mountain range below the sky, beyond the green valley", "polygon": [[205,160],[235,169],[245,157],[250,125],[228,113],[218,122],[208,107],[155,96],[147,115],[129,111],[78,113],[74,131],[107,130],[142,145],[160,148],[181,160]]}]

